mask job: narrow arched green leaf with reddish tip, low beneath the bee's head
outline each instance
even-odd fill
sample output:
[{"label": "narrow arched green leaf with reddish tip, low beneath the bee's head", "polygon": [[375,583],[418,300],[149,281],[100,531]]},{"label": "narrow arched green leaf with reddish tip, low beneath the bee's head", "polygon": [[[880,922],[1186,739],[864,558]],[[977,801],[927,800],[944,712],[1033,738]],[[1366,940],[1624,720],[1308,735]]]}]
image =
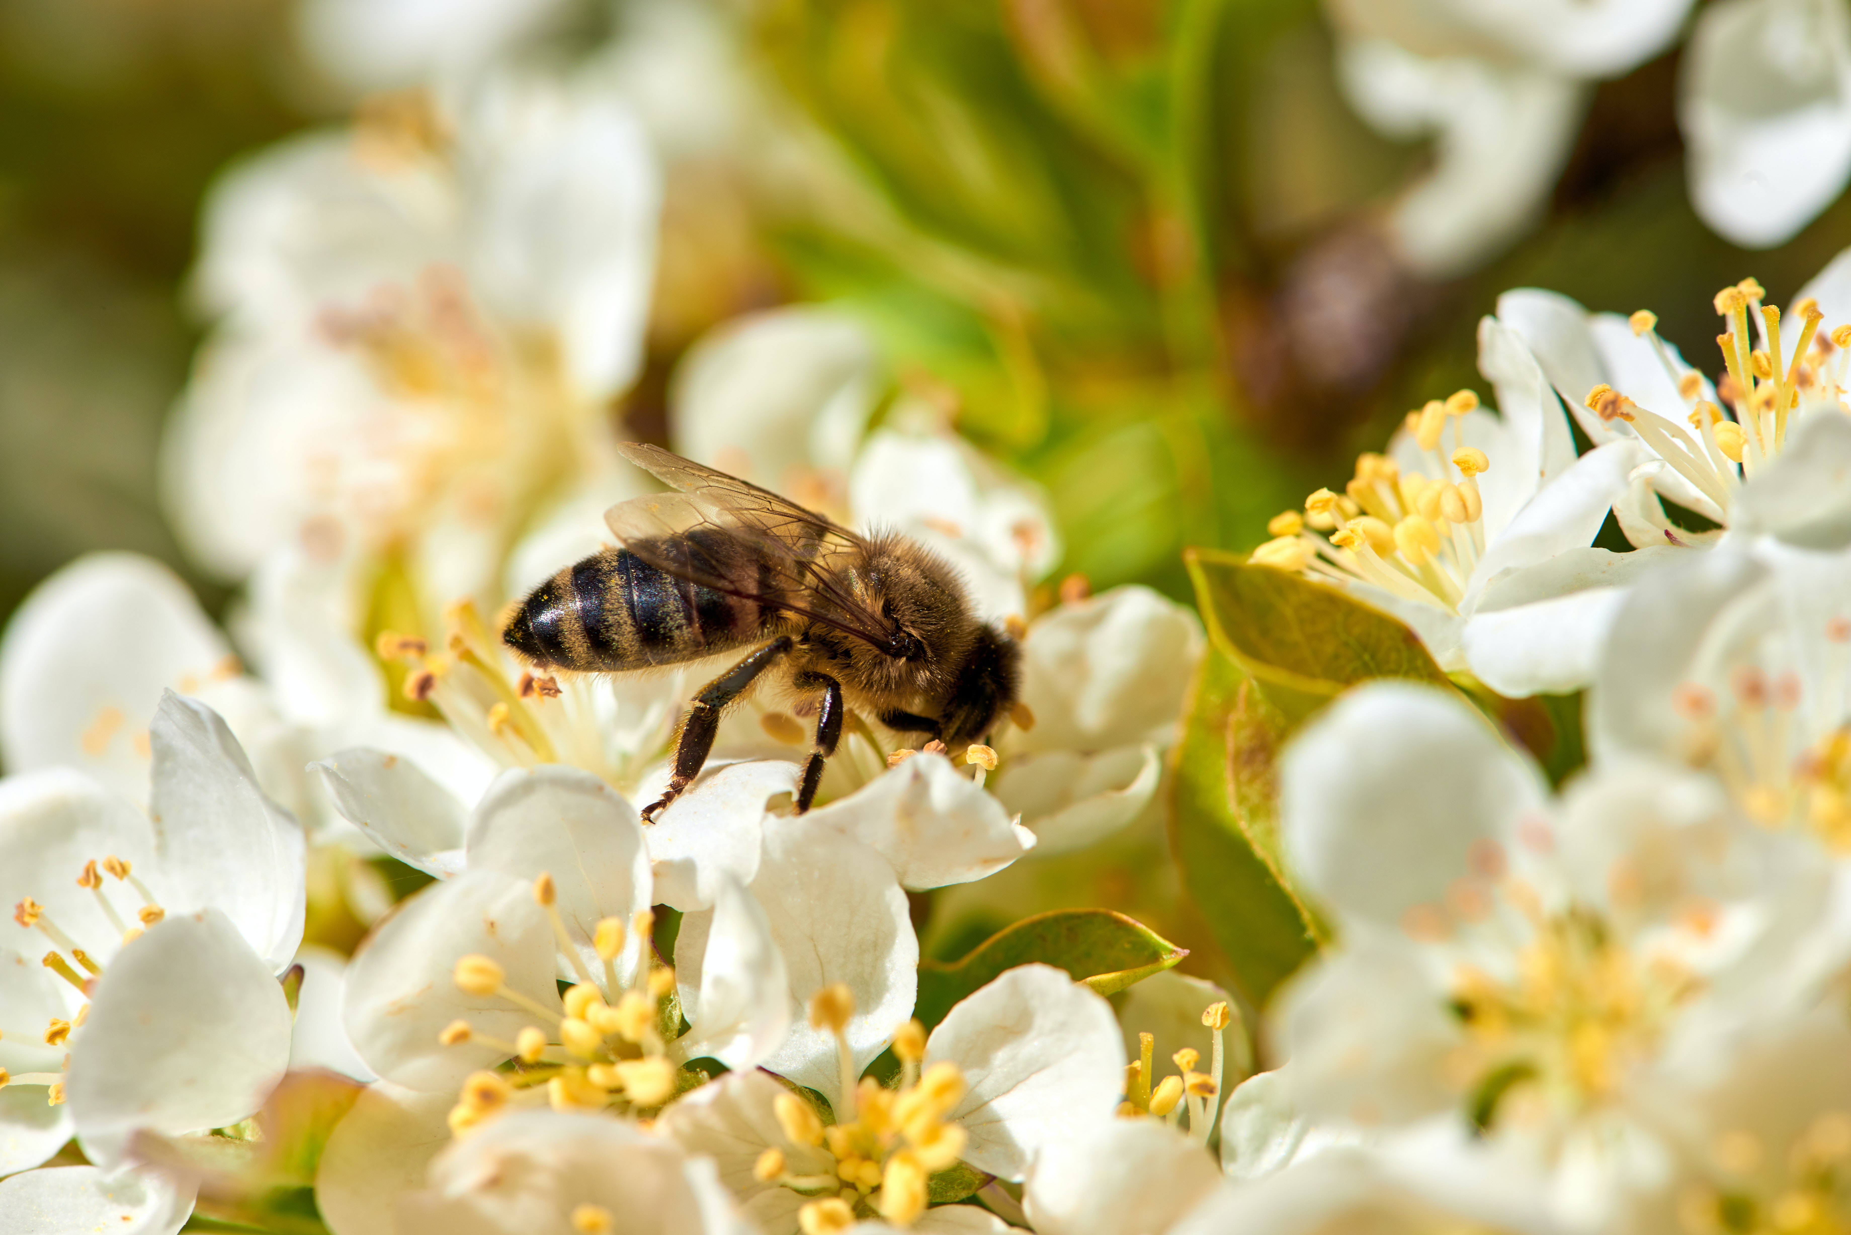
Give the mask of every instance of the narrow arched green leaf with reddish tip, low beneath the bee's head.
[{"label": "narrow arched green leaf with reddish tip, low beneath the bee's head", "polygon": [[1055,909],[1022,918],[963,961],[920,961],[914,1015],[931,1029],[951,1005],[1018,965],[1053,965],[1099,994],[1124,991],[1188,955],[1162,935],[1111,909]]}]

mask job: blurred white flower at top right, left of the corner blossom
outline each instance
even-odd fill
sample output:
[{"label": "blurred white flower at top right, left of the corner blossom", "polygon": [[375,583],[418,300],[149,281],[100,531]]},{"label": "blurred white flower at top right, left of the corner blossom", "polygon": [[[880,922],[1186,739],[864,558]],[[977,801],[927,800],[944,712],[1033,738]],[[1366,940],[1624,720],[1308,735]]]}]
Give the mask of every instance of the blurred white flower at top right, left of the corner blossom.
[{"label": "blurred white flower at top right, left of the corner blossom", "polygon": [[1392,215],[1435,276],[1494,256],[1542,213],[1592,78],[1671,43],[1690,0],[1327,0],[1357,111],[1392,137],[1436,133],[1438,167]]}]

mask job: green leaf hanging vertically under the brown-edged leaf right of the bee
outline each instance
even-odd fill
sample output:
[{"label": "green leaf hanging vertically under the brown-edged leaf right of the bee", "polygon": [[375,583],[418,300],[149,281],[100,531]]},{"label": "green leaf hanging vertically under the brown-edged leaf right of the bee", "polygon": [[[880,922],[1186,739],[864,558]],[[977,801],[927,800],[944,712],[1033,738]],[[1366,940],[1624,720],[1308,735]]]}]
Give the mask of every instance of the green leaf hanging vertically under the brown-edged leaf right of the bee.
[{"label": "green leaf hanging vertically under the brown-edged leaf right of the bee", "polygon": [[1211,648],[1170,755],[1170,844],[1253,1007],[1264,1007],[1322,939],[1277,857],[1273,755],[1285,733],[1285,717]]}]

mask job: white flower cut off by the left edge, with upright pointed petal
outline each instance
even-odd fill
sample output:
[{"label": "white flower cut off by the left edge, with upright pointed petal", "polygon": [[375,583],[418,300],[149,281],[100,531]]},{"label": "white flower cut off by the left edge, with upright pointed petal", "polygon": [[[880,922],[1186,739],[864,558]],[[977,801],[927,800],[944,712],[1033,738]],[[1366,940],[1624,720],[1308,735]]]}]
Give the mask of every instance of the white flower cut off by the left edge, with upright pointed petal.
[{"label": "white flower cut off by the left edge, with upright pointed petal", "polygon": [[[302,830],[202,704],[168,694],[152,754],[146,817],[72,770],[0,781],[13,1170],[56,1152],[57,1128],[115,1166],[139,1133],[235,1124],[289,1063],[276,974],[302,939]],[[24,1111],[26,1092],[68,1124]]]}]

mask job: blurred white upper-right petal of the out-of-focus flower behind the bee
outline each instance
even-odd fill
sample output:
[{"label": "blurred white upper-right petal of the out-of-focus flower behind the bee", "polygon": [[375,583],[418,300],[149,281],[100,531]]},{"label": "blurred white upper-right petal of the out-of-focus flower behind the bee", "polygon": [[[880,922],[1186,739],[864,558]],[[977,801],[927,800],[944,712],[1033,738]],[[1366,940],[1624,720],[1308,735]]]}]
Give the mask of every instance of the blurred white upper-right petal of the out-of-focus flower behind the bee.
[{"label": "blurred white upper-right petal of the out-of-focus flower behind the bee", "polygon": [[615,96],[496,80],[459,131],[468,270],[503,320],[555,331],[566,374],[609,398],[642,363],[661,172]]}]

